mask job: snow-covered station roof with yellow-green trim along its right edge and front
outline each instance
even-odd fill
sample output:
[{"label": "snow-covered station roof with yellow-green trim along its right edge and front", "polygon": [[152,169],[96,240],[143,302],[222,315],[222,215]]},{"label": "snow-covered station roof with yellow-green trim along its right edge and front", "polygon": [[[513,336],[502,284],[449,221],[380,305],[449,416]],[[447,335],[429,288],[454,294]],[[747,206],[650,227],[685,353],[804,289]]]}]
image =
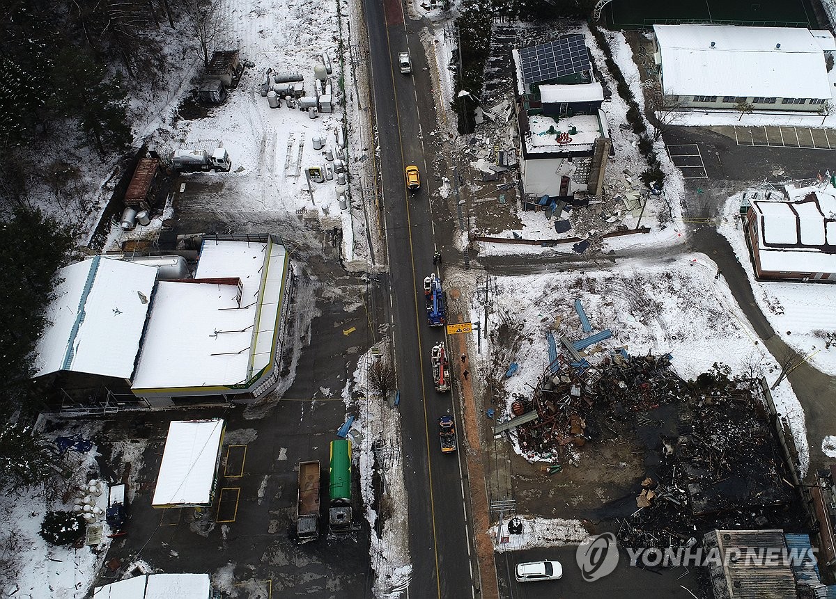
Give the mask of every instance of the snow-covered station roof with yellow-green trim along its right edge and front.
[{"label": "snow-covered station roof with yellow-green trim along its right edge and front", "polygon": [[286,264],[273,241],[206,240],[195,279],[157,284],[135,393],[228,389],[271,365]]}]

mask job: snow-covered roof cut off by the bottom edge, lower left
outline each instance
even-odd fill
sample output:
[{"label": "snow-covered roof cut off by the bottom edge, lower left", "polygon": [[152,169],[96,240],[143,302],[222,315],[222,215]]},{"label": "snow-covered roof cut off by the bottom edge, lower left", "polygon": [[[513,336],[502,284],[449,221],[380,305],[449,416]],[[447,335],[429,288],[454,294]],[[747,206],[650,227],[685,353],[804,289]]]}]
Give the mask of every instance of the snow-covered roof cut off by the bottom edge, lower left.
[{"label": "snow-covered roof cut off by the bottom edge, lower left", "polygon": [[143,574],[96,586],[95,599],[208,599],[208,574]]}]

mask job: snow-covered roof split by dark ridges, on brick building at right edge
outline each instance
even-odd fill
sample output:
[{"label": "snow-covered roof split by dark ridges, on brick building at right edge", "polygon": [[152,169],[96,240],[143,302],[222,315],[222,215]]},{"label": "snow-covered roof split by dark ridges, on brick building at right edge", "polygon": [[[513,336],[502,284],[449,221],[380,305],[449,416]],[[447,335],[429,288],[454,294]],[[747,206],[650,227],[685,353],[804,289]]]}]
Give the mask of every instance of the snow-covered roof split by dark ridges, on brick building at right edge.
[{"label": "snow-covered roof split by dark ridges, on brick building at right edge", "polygon": [[836,272],[836,189],[787,189],[789,199],[756,200],[762,271]]}]

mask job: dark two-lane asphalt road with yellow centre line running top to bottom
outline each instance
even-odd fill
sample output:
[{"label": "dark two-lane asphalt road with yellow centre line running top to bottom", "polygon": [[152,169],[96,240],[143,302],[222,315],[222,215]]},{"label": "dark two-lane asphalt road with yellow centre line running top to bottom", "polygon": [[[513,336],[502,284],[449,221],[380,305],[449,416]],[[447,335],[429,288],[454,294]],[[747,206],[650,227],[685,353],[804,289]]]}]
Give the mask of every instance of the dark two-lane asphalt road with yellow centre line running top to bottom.
[{"label": "dark two-lane asphalt road with yellow centre line running top to bottom", "polygon": [[[430,197],[436,178],[427,172],[421,119],[431,129],[435,114],[426,110],[422,115],[418,107],[419,94],[431,89],[431,79],[421,43],[407,31],[400,2],[366,0],[364,10],[401,397],[413,566],[409,596],[463,598],[474,594],[474,571],[461,458],[441,455],[437,427],[440,415],[454,413],[455,402],[450,393],[437,394],[433,388],[429,355],[432,345],[444,339],[444,331],[428,327],[423,300],[424,278],[434,269]],[[400,73],[398,66],[398,54],[407,51],[410,75]],[[421,189],[415,194],[407,194],[405,188],[404,168],[409,164],[421,171]],[[461,421],[457,413],[456,420]]]}]

